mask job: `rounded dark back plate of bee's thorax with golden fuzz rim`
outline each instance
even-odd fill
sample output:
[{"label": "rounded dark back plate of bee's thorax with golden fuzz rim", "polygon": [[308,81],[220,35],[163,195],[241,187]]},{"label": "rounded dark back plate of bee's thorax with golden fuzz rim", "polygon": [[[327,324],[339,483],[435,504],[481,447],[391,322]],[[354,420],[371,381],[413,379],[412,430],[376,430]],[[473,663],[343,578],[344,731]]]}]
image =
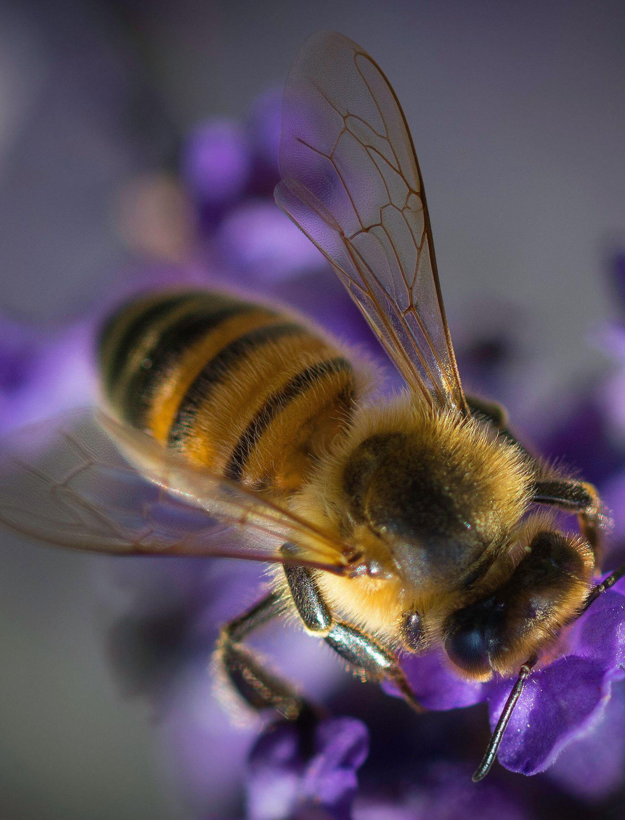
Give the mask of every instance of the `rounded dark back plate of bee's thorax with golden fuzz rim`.
[{"label": "rounded dark back plate of bee's thorax with golden fuzz rim", "polygon": [[368,435],[343,470],[354,525],[377,535],[399,575],[421,589],[467,582],[506,539],[527,497],[515,449],[477,425],[428,419],[417,430]]}]

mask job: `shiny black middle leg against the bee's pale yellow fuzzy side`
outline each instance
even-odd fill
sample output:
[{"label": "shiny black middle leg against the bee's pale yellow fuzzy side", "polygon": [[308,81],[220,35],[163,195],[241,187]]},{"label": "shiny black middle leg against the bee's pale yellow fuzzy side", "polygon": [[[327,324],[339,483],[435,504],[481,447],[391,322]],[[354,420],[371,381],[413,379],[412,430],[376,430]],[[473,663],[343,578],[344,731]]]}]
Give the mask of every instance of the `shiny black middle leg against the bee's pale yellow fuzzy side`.
[{"label": "shiny black middle leg against the bee's pale yellow fuzzy side", "polygon": [[286,566],[285,575],[295,608],[309,632],[323,637],[326,644],[363,677],[393,681],[415,711],[425,711],[408,685],[395,654],[358,627],[334,621],[317,581],[307,567]]}]

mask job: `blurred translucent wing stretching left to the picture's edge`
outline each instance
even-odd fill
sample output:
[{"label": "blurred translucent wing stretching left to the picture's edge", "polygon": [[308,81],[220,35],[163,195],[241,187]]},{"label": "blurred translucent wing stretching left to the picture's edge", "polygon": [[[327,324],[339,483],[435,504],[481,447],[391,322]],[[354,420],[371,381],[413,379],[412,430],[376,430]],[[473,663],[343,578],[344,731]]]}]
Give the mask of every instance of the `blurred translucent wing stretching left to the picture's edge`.
[{"label": "blurred translucent wing stretching left to the picture's edge", "polygon": [[[0,523],[49,544],[117,554],[216,555],[342,573],[343,545],[235,482],[93,411],[0,443]],[[304,558],[285,558],[281,544]]]}]

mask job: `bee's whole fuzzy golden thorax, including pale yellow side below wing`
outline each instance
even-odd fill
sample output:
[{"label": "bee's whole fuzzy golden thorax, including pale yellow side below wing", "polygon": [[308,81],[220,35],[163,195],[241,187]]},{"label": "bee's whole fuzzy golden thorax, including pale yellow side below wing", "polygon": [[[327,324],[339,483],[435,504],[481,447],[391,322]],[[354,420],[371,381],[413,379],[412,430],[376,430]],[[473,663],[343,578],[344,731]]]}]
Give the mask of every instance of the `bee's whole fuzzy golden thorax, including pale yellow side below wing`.
[{"label": "bee's whole fuzzy golden thorax, including pale yellow side below wing", "polygon": [[294,505],[380,565],[381,579],[320,582],[342,617],[393,638],[411,608],[440,622],[503,557],[532,477],[486,425],[400,394],[358,410]]}]

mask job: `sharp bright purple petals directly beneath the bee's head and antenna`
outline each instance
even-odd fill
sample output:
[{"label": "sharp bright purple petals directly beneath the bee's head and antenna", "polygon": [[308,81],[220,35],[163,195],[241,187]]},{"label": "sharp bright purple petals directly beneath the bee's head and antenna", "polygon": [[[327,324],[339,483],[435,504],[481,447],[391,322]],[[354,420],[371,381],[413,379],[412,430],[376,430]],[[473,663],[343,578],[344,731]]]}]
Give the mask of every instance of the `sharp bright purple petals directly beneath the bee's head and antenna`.
[{"label": "sharp bright purple petals directly beneath the bee's head and antenna", "polygon": [[[614,682],[625,676],[625,595],[616,589],[601,595],[566,640],[568,649],[562,657],[531,673],[501,741],[500,763],[513,772],[545,771],[563,749],[579,738],[590,739],[600,724]],[[464,681],[449,666],[438,651],[409,655],[403,662],[408,681],[426,708],[458,708],[487,700],[494,728],[514,679]],[[385,689],[397,694],[391,685]],[[624,728],[620,727],[621,735]]]}]

